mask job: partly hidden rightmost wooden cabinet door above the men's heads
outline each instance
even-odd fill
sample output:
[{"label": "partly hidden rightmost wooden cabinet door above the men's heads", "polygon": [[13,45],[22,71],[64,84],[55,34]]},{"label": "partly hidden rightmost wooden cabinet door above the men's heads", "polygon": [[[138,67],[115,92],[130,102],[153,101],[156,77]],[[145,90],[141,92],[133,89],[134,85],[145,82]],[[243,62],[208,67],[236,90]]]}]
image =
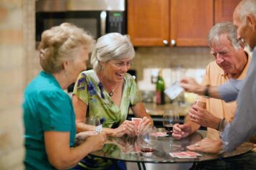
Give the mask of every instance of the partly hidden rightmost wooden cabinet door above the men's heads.
[{"label": "partly hidden rightmost wooden cabinet door above the men's heads", "polygon": [[215,0],[214,1],[214,23],[223,21],[232,22],[232,16],[235,7],[241,0]]}]

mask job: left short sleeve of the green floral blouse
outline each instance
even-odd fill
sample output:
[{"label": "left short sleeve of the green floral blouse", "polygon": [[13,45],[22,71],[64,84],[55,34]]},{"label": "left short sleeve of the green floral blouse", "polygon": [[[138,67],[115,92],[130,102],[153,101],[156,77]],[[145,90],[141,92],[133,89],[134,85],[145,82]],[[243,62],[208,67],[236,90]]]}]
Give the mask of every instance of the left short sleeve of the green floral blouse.
[{"label": "left short sleeve of the green floral blouse", "polygon": [[87,90],[87,76],[84,72],[80,73],[78,76],[77,82],[74,86],[73,94],[75,94],[79,99],[85,102],[85,104],[89,103],[89,94]]}]

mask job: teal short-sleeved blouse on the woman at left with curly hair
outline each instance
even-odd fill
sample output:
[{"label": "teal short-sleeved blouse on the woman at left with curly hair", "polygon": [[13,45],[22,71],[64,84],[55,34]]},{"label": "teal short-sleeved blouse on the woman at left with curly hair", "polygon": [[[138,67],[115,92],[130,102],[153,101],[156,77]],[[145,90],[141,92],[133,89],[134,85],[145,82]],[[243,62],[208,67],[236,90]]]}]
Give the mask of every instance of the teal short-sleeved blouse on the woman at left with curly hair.
[{"label": "teal short-sleeved blouse on the woman at left with curly hair", "polygon": [[75,113],[70,96],[62,91],[52,74],[42,71],[24,91],[26,169],[54,169],[49,164],[44,131],[69,131],[75,143]]}]

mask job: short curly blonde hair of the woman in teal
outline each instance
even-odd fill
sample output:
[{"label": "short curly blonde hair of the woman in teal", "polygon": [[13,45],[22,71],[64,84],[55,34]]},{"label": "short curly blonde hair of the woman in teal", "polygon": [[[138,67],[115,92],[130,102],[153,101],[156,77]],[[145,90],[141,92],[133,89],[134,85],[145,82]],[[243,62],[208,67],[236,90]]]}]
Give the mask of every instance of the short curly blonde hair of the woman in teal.
[{"label": "short curly blonde hair of the woman in teal", "polygon": [[75,59],[80,46],[90,53],[95,46],[95,40],[74,24],[63,23],[44,31],[39,44],[42,69],[51,74],[62,71],[63,62]]}]

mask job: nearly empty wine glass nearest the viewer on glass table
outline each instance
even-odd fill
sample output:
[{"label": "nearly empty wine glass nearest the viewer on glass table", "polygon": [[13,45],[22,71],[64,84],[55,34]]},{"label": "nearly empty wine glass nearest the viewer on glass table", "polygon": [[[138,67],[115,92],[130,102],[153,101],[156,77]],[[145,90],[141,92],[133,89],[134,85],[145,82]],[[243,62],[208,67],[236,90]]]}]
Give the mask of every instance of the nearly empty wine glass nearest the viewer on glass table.
[{"label": "nearly empty wine glass nearest the viewer on glass table", "polygon": [[147,126],[138,136],[138,143],[143,156],[151,156],[156,149],[156,126]]}]

